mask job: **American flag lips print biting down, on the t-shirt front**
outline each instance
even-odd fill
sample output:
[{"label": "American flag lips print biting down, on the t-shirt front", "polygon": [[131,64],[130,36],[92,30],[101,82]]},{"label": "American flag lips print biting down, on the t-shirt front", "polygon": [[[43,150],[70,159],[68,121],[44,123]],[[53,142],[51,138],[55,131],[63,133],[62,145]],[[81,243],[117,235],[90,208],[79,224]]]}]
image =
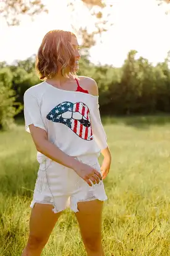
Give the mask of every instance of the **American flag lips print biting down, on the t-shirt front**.
[{"label": "American flag lips print biting down, on the t-shirt front", "polygon": [[59,122],[69,127],[81,139],[93,140],[90,111],[82,102],[64,101],[52,109],[46,116],[49,121]]}]

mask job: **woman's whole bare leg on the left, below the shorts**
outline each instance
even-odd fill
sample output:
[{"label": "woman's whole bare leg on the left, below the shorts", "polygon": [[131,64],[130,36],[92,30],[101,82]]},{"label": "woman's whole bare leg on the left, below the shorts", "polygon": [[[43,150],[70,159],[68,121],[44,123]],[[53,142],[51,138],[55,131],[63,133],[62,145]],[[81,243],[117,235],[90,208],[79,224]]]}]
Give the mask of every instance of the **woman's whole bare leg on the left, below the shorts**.
[{"label": "woman's whole bare leg on the left, below the shorts", "polygon": [[22,256],[41,255],[49,235],[62,213],[53,213],[52,209],[53,206],[50,204],[35,204],[30,216],[30,234]]}]

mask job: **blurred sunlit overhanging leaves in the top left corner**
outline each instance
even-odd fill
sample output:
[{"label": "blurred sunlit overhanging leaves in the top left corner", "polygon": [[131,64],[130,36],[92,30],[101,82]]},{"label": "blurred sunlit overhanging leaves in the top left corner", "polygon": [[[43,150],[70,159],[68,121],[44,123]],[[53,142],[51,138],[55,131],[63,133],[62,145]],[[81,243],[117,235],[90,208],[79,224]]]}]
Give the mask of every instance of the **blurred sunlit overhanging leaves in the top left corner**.
[{"label": "blurred sunlit overhanging leaves in the top left corner", "polygon": [[48,12],[41,0],[4,0],[1,1],[0,15],[6,19],[7,25],[19,25],[20,17],[34,17],[40,12]]}]

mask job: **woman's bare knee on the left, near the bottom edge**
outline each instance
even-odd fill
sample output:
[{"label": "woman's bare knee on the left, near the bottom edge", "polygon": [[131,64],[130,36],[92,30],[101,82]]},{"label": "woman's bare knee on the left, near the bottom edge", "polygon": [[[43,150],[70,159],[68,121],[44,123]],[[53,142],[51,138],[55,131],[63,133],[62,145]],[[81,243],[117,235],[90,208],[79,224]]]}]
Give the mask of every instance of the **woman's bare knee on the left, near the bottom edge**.
[{"label": "woman's bare knee on the left, near the bottom edge", "polygon": [[30,235],[28,238],[27,248],[30,250],[40,250],[43,249],[48,242],[45,237],[38,237],[36,235]]}]

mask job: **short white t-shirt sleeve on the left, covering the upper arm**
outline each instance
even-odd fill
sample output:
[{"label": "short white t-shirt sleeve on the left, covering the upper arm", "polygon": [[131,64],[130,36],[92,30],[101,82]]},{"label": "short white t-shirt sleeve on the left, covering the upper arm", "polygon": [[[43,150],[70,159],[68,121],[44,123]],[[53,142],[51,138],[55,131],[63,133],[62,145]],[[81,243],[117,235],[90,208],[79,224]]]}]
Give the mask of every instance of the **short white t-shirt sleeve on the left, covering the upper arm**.
[{"label": "short white t-shirt sleeve on the left, covering the upper arm", "polygon": [[30,93],[29,89],[23,96],[24,103],[24,118],[25,118],[25,130],[30,132],[29,125],[33,124],[36,127],[46,130],[45,124],[41,117],[40,106],[38,99],[35,95]]}]

